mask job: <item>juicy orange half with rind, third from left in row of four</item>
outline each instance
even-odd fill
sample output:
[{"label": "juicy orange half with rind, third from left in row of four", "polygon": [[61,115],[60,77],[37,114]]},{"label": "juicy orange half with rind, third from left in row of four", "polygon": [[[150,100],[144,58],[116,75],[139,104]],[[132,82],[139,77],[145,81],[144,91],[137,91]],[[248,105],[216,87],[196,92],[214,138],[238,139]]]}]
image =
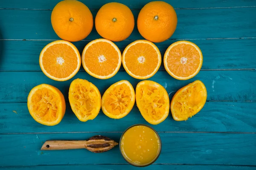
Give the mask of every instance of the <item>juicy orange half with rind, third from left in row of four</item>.
[{"label": "juicy orange half with rind, third from left in row of four", "polygon": [[123,54],[122,63],[125,71],[136,79],[148,79],[157,72],[161,65],[161,54],[154,43],[137,40],[129,44]]}]

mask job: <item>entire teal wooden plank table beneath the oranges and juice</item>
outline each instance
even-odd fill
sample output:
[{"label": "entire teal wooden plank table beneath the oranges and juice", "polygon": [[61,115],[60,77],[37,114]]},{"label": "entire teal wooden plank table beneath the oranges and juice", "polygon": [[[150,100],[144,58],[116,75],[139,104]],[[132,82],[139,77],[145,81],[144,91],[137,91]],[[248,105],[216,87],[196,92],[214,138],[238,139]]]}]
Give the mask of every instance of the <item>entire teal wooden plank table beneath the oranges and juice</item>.
[{"label": "entire teal wooden plank table beneath the oranges and juice", "polygon": [[[112,0],[116,1],[116,0]],[[117,0],[131,8],[137,20],[150,0]],[[84,69],[73,79],[56,82],[39,66],[42,48],[59,40],[51,26],[52,8],[59,0],[0,0],[0,169],[131,170],[119,147],[106,153],[87,150],[41,151],[49,139],[88,139],[105,135],[119,141],[129,126],[144,123],[138,108],[122,119],[110,119],[102,111],[96,119],[80,122],[67,103],[60,124],[47,127],[29,115],[26,99],[36,85],[59,88],[66,101],[70,82],[87,79],[101,94],[114,82],[127,79],[135,87],[140,80],[123,68],[111,79],[100,80]],[[111,0],[81,0],[95,17]],[[170,99],[196,79],[204,82],[208,96],[204,108],[192,119],[176,122],[169,117],[152,125],[162,139],[162,153],[148,170],[255,170],[256,169],[256,0],[166,0],[176,10],[177,29],[171,39],[156,43],[162,55],[173,42],[189,40],[203,53],[197,76],[186,81],[172,78],[161,65],[150,78],[163,85]],[[84,46],[100,38],[96,29],[74,45]],[[143,39],[137,26],[128,40],[116,42],[121,52],[134,40]]]}]

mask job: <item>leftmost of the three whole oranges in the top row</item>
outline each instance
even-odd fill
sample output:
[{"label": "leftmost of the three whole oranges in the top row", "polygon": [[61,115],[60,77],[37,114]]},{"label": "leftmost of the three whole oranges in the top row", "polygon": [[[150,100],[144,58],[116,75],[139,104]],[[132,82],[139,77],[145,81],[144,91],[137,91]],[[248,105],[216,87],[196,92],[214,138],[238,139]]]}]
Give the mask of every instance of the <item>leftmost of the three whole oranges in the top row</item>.
[{"label": "leftmost of the three whole oranges in the top row", "polygon": [[80,41],[93,29],[90,9],[77,0],[63,0],[52,10],[52,28],[63,40]]}]

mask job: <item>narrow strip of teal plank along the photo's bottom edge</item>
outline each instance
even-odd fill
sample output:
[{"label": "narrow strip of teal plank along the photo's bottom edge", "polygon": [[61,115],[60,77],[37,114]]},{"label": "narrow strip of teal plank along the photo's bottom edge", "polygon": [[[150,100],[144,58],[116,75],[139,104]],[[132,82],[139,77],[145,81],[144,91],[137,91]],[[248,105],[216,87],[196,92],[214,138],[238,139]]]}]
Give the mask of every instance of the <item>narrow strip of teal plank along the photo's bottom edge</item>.
[{"label": "narrow strip of teal plank along the photo's bottom edge", "polygon": [[[134,170],[138,169],[128,164],[110,164],[110,165],[55,165],[55,166],[19,166],[19,167],[0,167],[1,170]],[[226,165],[159,165],[152,164],[144,167],[143,170],[255,170],[254,166],[226,166]]]}]

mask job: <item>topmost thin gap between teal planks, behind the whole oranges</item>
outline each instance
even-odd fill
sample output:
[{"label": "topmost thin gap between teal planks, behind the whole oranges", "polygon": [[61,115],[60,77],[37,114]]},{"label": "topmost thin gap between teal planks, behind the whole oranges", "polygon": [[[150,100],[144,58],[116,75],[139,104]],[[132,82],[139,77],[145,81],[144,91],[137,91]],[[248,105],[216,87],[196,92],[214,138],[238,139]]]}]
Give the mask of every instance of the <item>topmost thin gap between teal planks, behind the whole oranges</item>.
[{"label": "topmost thin gap between teal planks, behind the whole oranges", "polygon": [[[226,9],[226,8],[255,8],[256,6],[230,6],[230,7],[203,7],[203,8],[174,8],[175,10],[193,10],[193,9]],[[44,8],[0,8],[3,10],[43,10],[43,11],[52,11],[52,9]],[[96,11],[99,9],[90,9],[91,11]],[[131,9],[131,10],[141,10],[141,9]]]}]

